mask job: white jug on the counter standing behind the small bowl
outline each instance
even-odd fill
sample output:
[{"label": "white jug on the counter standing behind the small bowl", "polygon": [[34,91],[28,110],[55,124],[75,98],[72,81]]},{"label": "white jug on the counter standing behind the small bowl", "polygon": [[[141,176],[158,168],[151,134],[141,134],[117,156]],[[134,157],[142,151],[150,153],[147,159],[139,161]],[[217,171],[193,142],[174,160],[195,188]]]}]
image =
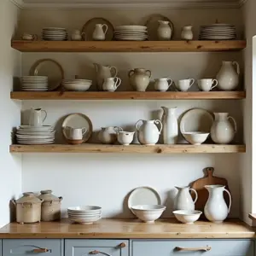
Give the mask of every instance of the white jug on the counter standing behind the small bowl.
[{"label": "white jug on the counter standing behind the small bowl", "polygon": [[[177,195],[174,199],[173,210],[190,210],[195,211],[195,202],[197,201],[198,195],[195,189],[189,187],[175,187],[177,189]],[[193,201],[189,190],[195,193],[195,201]]]}]

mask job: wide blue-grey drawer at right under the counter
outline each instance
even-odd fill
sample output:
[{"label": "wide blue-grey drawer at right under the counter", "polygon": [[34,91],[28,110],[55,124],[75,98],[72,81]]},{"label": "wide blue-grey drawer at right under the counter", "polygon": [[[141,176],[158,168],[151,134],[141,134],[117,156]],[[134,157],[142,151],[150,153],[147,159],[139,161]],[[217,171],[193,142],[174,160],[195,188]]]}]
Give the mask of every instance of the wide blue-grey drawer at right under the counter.
[{"label": "wide blue-grey drawer at right under the counter", "polygon": [[[132,256],[253,256],[252,240],[132,241]],[[210,250],[204,252],[203,248]],[[184,250],[183,250],[184,248]]]}]

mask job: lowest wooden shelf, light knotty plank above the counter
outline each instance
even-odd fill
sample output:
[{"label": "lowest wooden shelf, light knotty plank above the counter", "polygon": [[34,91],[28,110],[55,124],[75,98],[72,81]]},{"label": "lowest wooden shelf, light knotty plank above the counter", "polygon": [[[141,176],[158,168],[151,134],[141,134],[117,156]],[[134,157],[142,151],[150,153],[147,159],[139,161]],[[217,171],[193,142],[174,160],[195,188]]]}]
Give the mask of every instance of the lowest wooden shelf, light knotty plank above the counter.
[{"label": "lowest wooden shelf, light knotty plank above the counter", "polygon": [[135,154],[201,154],[201,153],[244,153],[245,145],[189,144],[178,145],[102,145],[102,144],[49,144],[11,145],[11,153],[135,153]]}]

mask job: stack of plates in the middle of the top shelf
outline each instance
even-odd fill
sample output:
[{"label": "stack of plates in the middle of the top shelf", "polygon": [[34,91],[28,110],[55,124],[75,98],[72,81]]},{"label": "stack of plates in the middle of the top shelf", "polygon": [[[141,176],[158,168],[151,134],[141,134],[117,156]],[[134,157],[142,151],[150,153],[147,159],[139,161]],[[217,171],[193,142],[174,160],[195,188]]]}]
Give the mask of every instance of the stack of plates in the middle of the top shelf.
[{"label": "stack of plates in the middle of the top shelf", "polygon": [[114,38],[118,41],[144,41],[148,39],[147,26],[117,26]]}]

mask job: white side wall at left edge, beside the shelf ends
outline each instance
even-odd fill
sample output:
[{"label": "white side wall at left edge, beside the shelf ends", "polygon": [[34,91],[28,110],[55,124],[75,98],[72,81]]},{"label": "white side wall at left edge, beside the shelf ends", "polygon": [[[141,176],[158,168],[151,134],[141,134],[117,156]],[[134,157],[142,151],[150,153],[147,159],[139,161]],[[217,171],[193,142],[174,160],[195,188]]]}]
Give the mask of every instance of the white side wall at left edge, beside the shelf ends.
[{"label": "white side wall at left edge, beside the shelf ends", "polygon": [[21,55],[11,49],[10,40],[15,33],[19,10],[9,0],[0,2],[0,226],[9,223],[9,201],[20,196],[21,157],[9,154],[11,131],[20,125],[20,102],[10,100],[9,92],[13,89],[13,80],[20,76]]}]

